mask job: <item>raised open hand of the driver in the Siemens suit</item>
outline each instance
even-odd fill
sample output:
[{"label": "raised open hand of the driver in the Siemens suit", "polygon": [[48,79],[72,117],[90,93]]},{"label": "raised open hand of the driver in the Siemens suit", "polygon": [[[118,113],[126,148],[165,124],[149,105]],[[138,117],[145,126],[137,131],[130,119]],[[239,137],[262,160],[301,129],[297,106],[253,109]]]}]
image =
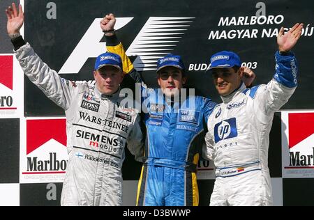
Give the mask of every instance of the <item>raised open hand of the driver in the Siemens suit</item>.
[{"label": "raised open hand of the driver in the Siemens suit", "polygon": [[24,23],[24,13],[22,6],[19,6],[19,11],[17,13],[17,8],[15,3],[12,3],[12,7],[6,9],[6,17],[8,17],[8,23],[6,25],[9,35],[20,33],[20,29]]}]

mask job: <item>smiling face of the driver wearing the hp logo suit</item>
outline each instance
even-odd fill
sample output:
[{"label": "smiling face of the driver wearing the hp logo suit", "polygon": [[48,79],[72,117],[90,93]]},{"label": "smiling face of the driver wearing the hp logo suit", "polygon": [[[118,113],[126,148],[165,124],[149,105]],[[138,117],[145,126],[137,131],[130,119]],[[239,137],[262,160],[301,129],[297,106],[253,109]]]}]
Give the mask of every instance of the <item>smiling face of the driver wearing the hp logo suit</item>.
[{"label": "smiling face of the driver wearing the hp logo suit", "polygon": [[237,72],[235,72],[233,68],[214,68],[211,70],[214,85],[219,95],[230,95],[239,88],[242,72],[243,68],[239,68]]}]

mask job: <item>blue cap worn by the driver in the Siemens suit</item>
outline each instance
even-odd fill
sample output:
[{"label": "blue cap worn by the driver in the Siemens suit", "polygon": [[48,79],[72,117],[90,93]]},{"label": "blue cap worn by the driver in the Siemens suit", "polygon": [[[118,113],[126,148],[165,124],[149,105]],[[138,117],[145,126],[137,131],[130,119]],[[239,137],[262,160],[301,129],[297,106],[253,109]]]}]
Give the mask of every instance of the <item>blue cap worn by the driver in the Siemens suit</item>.
[{"label": "blue cap worn by the driver in the Siemens suit", "polygon": [[123,70],[121,57],[118,54],[113,54],[109,52],[106,52],[105,54],[100,54],[96,58],[95,70],[99,70],[105,65],[112,65],[121,71]]}]

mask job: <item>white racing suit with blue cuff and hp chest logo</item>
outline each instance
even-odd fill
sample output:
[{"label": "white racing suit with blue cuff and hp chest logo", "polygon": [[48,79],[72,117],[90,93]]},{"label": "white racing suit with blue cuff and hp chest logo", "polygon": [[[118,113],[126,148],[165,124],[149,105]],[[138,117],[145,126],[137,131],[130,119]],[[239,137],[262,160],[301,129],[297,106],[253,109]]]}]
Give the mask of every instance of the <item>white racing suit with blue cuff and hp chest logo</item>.
[{"label": "white racing suit with blue cuff and hp chest logo", "polygon": [[269,132],[275,111],[297,86],[294,54],[276,53],[276,74],[267,85],[244,84],[218,104],[208,120],[204,157],[214,160],[210,205],[272,205]]}]

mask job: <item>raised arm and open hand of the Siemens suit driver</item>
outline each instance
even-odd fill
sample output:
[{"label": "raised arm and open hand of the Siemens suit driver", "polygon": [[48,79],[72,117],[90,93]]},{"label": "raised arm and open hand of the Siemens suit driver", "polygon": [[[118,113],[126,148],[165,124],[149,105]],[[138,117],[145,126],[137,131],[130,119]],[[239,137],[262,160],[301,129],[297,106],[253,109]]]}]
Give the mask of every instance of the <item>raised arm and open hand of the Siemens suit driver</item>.
[{"label": "raised arm and open hand of the Siemens suit driver", "polygon": [[51,70],[33,51],[31,45],[23,40],[20,35],[20,29],[24,23],[22,6],[20,5],[17,11],[15,3],[12,3],[12,7],[10,6],[6,9],[6,16],[8,18],[8,36],[13,42],[15,56],[17,57],[17,61],[20,62],[24,74],[50,100],[58,104],[61,108],[68,109],[73,93],[77,91],[77,88],[72,86],[73,84],[68,80],[59,77],[56,71]]}]

